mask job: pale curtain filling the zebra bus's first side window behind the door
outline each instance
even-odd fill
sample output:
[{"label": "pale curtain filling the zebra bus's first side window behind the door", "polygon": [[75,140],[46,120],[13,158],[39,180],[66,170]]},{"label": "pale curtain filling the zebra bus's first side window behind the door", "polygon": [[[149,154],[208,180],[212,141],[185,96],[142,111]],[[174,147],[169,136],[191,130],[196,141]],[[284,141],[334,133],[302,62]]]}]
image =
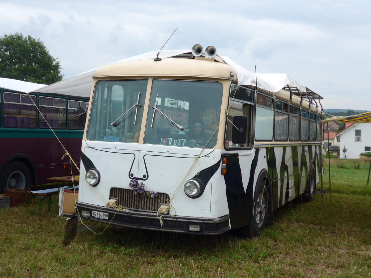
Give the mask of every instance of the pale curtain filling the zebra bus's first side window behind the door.
[{"label": "pale curtain filling the zebra bus's first side window behind the door", "polygon": [[273,139],[273,110],[256,107],[255,139]]}]

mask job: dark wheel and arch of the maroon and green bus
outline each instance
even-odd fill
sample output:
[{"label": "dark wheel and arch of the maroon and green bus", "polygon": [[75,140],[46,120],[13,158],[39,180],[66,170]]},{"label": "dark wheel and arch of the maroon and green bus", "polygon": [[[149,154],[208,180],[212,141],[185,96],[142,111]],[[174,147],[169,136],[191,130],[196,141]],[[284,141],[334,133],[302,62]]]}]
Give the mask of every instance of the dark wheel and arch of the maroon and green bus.
[{"label": "dark wheel and arch of the maroon and green bus", "polygon": [[28,167],[20,161],[12,161],[4,169],[0,177],[0,191],[3,188],[25,189],[31,186],[31,173]]}]

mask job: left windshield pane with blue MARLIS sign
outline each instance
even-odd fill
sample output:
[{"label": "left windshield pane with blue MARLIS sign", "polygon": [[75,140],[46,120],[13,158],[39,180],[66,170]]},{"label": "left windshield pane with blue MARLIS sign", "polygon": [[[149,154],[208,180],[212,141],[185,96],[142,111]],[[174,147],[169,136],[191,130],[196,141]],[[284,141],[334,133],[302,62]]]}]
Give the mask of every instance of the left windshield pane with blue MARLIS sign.
[{"label": "left windshield pane with blue MARLIS sign", "polygon": [[138,143],[147,84],[147,79],[97,82],[87,138]]}]

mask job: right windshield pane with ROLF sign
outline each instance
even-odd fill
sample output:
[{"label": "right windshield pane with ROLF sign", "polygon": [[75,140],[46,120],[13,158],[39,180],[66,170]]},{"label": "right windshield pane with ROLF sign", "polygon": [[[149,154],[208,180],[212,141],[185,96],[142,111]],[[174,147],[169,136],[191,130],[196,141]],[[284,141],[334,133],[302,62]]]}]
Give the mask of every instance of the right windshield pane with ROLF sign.
[{"label": "right windshield pane with ROLF sign", "polygon": [[144,143],[213,148],[222,93],[219,82],[153,80]]}]

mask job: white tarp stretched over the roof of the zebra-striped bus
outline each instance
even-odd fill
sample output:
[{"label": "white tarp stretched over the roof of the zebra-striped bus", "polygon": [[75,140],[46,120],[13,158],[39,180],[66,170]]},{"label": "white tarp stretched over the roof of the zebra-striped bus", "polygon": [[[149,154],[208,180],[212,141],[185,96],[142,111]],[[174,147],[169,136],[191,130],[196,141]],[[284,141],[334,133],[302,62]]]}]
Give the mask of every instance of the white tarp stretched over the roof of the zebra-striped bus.
[{"label": "white tarp stretched over the roof of the zebra-striped bus", "polygon": [[[115,63],[127,62],[132,60],[141,59],[154,59],[158,51],[152,51],[137,56],[129,57],[124,60],[119,60]],[[190,50],[162,50],[159,57],[164,59],[167,57],[176,56],[183,53],[190,53]],[[227,64],[230,64],[237,73],[238,85],[256,85],[260,89],[267,90],[269,92],[278,92],[286,85],[297,87],[299,90],[305,92],[305,86],[300,82],[296,81],[292,77],[286,74],[267,74],[267,73],[255,73],[250,72],[239,64],[235,63],[229,57],[220,56]],[[79,75],[67,78],[65,80],[50,84],[42,89],[35,89],[34,92],[50,93],[59,95],[69,95],[76,97],[90,97],[92,87],[92,76],[96,69],[88,72],[81,73]]]}]

